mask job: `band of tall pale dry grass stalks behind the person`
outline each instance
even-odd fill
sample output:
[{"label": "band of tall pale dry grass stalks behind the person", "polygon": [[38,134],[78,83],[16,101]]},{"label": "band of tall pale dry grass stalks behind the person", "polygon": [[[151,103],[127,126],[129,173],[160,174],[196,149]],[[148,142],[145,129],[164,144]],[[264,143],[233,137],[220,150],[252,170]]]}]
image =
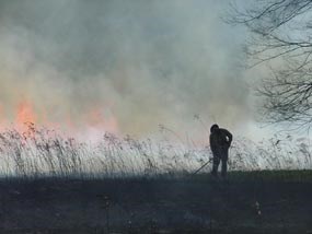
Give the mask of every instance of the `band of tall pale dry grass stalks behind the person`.
[{"label": "band of tall pale dry grass stalks behind the person", "polygon": [[[210,150],[167,140],[118,138],[105,132],[97,143],[27,125],[27,131],[8,129],[0,133],[2,177],[125,177],[178,176],[193,172],[211,157]],[[230,152],[230,171],[311,168],[308,142],[286,136],[258,144],[236,138]],[[208,165],[203,172],[210,168]]]}]

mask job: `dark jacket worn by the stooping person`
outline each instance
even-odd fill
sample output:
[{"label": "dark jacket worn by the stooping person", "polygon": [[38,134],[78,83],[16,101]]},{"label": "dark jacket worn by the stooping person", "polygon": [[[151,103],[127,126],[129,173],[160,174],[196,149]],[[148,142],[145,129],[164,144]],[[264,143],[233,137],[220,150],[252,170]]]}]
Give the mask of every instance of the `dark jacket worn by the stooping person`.
[{"label": "dark jacket worn by the stooping person", "polygon": [[220,149],[229,149],[232,142],[233,136],[230,131],[223,128],[219,128],[210,133],[210,149],[212,153]]}]

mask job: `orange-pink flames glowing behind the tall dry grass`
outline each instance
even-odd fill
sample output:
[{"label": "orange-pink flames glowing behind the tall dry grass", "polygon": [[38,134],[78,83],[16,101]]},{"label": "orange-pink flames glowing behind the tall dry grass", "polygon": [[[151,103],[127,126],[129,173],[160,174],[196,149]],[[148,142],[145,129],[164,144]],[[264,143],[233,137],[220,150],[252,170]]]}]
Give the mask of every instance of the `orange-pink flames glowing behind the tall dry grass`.
[{"label": "orange-pink flames glowing behind the tall dry grass", "polygon": [[[5,115],[5,106],[0,103],[0,127],[1,129],[9,126],[9,116]],[[93,134],[102,134],[105,131],[118,133],[118,121],[112,114],[109,106],[96,104],[89,107],[89,110],[82,115],[72,115],[62,113],[62,120],[55,122],[53,115],[49,115],[48,107],[41,108],[38,112],[34,104],[28,100],[18,103],[13,110],[13,127],[20,132],[28,132],[30,126],[45,127],[50,130],[65,130],[69,134],[94,137]],[[30,132],[28,132],[30,133]],[[89,136],[88,136],[89,134]]]}]

